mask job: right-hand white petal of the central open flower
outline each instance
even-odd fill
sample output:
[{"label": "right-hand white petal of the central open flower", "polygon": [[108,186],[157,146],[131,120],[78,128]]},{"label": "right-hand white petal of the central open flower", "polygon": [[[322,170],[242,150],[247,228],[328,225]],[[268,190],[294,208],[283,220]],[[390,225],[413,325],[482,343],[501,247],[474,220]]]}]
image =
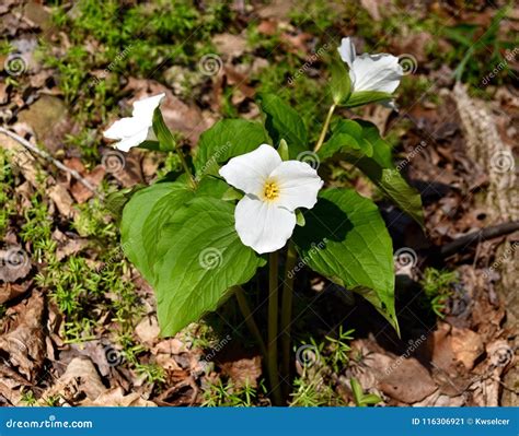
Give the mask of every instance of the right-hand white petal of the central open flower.
[{"label": "right-hand white petal of the central open flower", "polygon": [[318,192],[323,180],[309,164],[299,161],[282,162],[269,179],[279,186],[276,204],[295,211],[297,208],[312,209],[318,201]]}]

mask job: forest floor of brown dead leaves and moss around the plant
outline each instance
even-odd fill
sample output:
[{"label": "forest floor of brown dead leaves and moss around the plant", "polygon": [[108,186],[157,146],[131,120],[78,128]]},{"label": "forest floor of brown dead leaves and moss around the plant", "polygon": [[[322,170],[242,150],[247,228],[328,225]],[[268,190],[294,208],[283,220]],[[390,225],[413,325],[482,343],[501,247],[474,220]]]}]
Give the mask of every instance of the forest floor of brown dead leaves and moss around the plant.
[{"label": "forest floor of brown dead leaves and moss around the plant", "polygon": [[0,130],[1,405],[269,404],[234,301],[160,338],[106,199],[180,163],[115,152],[102,132],[160,92],[186,150],[222,117],[260,118],[262,91],[320,125],[323,59],[344,36],[406,62],[399,111],[341,114],[390,141],[426,232],[336,164],[332,185],[374,196],[390,228],[402,335],[360,297],[298,276],[289,403],[518,405],[517,7],[4,0],[0,17],[0,119],[14,133]]}]

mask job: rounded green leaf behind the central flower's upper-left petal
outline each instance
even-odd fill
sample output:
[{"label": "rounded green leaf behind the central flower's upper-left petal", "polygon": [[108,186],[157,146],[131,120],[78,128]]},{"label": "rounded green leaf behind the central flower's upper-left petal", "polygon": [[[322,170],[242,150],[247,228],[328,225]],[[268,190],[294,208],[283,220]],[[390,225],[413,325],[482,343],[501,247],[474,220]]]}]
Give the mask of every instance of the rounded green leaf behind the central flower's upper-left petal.
[{"label": "rounded green leaf behind the central flower's upper-left petal", "polygon": [[258,122],[244,119],[223,119],[206,130],[198,141],[194,158],[197,176],[217,174],[219,164],[231,157],[252,152],[268,142]]}]

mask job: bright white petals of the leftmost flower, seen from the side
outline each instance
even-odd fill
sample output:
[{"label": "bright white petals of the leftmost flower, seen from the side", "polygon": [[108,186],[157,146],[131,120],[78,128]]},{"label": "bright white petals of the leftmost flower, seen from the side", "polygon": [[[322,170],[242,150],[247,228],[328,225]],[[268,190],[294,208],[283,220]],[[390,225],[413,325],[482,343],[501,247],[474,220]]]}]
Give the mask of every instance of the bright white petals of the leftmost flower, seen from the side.
[{"label": "bright white petals of the leftmost flower, seen from the side", "polygon": [[124,152],[138,146],[145,141],[157,141],[153,132],[153,111],[160,106],[165,94],[153,95],[134,103],[131,117],[115,121],[103,135],[118,140],[116,149]]}]

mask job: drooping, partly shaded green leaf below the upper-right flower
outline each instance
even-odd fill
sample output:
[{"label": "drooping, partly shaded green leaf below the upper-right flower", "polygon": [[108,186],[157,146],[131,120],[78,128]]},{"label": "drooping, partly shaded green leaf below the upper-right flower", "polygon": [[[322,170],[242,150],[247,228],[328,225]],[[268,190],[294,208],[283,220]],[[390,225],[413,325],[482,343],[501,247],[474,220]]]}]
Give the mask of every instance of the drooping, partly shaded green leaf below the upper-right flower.
[{"label": "drooping, partly shaded green leaf below the upper-right flower", "polygon": [[382,193],[424,226],[420,196],[394,167],[391,148],[374,125],[361,120],[341,120],[318,152],[321,161],[335,154],[357,166]]}]

